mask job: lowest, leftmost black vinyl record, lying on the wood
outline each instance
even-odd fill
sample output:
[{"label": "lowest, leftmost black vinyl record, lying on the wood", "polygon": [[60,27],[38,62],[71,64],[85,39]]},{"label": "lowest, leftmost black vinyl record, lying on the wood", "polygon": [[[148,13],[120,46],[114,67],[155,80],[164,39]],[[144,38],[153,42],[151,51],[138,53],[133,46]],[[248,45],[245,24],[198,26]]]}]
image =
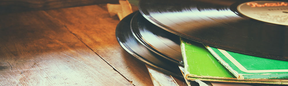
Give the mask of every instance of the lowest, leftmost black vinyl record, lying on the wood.
[{"label": "lowest, leftmost black vinyl record, lying on the wood", "polygon": [[134,14],[135,12],[127,15],[116,27],[116,39],[122,48],[149,66],[179,79],[184,79],[177,64],[151,52],[134,38],[130,29],[130,21]]}]

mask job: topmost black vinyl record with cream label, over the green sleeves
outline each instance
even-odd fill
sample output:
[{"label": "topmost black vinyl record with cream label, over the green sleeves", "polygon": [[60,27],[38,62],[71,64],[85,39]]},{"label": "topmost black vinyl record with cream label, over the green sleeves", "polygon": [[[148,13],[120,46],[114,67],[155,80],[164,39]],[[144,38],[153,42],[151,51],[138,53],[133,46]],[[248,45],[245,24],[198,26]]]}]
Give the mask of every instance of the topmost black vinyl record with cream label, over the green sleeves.
[{"label": "topmost black vinyl record with cream label, over the green sleeves", "polygon": [[288,2],[238,1],[142,0],[139,10],[151,23],[184,38],[234,52],[288,60]]}]

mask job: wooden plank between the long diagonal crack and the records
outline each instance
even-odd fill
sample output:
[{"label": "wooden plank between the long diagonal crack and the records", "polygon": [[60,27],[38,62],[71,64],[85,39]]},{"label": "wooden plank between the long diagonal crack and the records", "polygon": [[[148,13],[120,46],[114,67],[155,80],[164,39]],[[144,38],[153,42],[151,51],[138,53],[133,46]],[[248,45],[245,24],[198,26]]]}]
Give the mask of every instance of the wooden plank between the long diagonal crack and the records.
[{"label": "wooden plank between the long diagonal crack and the records", "polygon": [[109,17],[106,5],[53,9],[46,11],[111,64],[136,86],[152,86],[145,65],[121,48],[115,37],[118,18]]}]

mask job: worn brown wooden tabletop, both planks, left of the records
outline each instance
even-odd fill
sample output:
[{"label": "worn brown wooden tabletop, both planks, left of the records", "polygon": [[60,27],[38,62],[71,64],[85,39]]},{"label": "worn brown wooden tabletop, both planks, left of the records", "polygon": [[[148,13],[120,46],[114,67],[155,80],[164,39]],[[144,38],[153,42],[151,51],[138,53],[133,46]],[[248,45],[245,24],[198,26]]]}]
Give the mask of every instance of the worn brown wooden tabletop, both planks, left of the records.
[{"label": "worn brown wooden tabletop, both planks, left of the records", "polygon": [[106,4],[0,14],[0,85],[151,86]]}]

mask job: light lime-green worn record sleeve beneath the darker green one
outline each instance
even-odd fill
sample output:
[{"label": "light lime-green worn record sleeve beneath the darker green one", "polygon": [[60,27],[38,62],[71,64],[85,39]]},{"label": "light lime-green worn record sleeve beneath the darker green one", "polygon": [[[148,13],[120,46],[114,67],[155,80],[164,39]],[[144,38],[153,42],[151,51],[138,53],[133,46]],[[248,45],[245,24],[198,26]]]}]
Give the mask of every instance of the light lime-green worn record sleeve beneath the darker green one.
[{"label": "light lime-green worn record sleeve beneath the darker green one", "polygon": [[286,79],[238,79],[203,44],[184,38],[180,40],[184,62],[183,72],[187,80],[288,85]]}]

